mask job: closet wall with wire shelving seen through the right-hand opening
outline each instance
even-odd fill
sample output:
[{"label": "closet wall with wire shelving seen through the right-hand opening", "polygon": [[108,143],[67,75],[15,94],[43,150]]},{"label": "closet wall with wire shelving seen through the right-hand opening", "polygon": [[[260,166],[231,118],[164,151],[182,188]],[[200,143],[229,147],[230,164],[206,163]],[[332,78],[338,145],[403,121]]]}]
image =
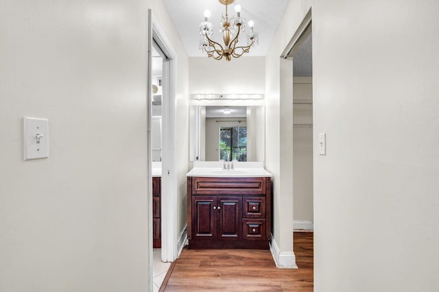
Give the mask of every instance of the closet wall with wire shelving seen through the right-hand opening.
[{"label": "closet wall with wire shelving seen through the right-hand opening", "polygon": [[[294,62],[294,57],[293,57]],[[312,103],[312,77],[294,77],[294,100]],[[313,106],[294,103],[294,124],[312,124]],[[313,128],[293,129],[293,213],[294,228],[311,229],[313,224]]]}]

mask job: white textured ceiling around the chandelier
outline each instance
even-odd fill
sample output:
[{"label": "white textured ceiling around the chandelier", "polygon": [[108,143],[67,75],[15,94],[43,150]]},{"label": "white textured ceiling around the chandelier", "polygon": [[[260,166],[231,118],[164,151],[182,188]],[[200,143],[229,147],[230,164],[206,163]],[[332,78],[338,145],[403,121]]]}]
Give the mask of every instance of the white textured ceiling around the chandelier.
[{"label": "white textured ceiling around the chandelier", "polygon": [[[225,13],[226,6],[219,3],[218,0],[163,0],[167,6],[169,15],[185,45],[189,57],[204,57],[198,45],[200,42],[200,34],[198,26],[204,21],[204,10],[212,12],[209,21],[213,24],[213,40],[222,42],[219,33],[219,21],[221,15]],[[235,3],[241,5],[241,16],[246,21],[254,21],[254,31],[259,34],[259,44],[250,49],[248,56],[264,56],[279,21],[281,20],[285,8],[289,0],[237,0]],[[233,7],[235,3],[229,5],[228,13],[235,13]],[[244,33],[244,36],[248,31]],[[240,38],[238,44],[246,44],[246,38]]]}]

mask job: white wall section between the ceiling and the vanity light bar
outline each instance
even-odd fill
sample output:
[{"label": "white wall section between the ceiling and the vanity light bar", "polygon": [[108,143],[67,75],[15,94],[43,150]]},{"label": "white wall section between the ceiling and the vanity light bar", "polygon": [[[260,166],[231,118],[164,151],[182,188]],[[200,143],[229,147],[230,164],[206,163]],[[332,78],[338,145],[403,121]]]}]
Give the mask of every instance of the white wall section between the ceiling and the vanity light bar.
[{"label": "white wall section between the ceiling and the vanity light bar", "polygon": [[265,58],[241,57],[215,60],[189,58],[190,94],[263,94],[265,92]]}]

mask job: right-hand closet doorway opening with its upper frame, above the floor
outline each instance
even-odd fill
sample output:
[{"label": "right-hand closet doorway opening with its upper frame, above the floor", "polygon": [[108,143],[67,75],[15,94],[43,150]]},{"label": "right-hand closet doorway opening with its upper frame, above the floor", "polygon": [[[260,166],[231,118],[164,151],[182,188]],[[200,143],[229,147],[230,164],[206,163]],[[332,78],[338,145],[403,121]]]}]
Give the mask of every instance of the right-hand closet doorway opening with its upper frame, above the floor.
[{"label": "right-hand closet doorway opening with its upper frame, above the floor", "polygon": [[[313,77],[311,9],[283,51],[292,60],[294,231],[313,231]],[[291,72],[291,71],[290,71]]]}]

